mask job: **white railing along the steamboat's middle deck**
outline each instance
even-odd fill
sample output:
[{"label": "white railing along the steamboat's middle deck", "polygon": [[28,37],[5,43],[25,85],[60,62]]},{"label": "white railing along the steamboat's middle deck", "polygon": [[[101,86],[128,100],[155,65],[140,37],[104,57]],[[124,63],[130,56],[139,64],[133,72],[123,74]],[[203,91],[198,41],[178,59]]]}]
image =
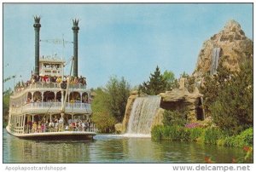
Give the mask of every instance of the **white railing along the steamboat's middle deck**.
[{"label": "white railing along the steamboat's middle deck", "polygon": [[[86,112],[91,113],[91,107],[89,103],[66,103],[66,112]],[[33,102],[28,103],[24,106],[11,107],[10,112],[12,113],[21,113],[21,112],[30,112],[30,111],[60,111],[61,102]]]}]

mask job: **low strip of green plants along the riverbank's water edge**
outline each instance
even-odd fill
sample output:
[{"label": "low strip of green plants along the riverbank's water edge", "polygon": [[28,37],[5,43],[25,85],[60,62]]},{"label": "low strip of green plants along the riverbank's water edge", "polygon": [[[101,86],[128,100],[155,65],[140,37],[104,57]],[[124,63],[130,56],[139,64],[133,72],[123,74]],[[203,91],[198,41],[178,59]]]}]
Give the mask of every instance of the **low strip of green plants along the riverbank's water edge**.
[{"label": "low strip of green plants along the riverbank's water edge", "polygon": [[151,131],[153,140],[195,141],[218,146],[253,146],[253,128],[239,135],[228,136],[218,128],[186,128],[181,126],[154,126]]}]

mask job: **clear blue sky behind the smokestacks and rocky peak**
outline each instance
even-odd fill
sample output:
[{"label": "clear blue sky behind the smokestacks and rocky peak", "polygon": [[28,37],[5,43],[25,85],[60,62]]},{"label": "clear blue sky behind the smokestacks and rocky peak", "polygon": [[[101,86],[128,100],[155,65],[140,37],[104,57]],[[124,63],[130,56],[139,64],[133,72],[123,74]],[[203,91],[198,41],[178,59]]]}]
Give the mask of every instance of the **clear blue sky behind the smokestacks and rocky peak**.
[{"label": "clear blue sky behind the smokestacks and rocky peak", "polygon": [[[5,3],[3,78],[30,77],[35,14],[42,16],[42,40],[73,41],[72,19],[80,19],[79,75],[87,77],[89,88],[104,86],[111,76],[125,77],[135,86],[147,81],[156,66],[176,77],[191,74],[203,42],[228,20],[238,21],[253,38],[252,3]],[[40,55],[55,53],[68,60],[73,44],[67,43],[65,49],[40,44]],[[13,84],[3,83],[3,89]]]}]

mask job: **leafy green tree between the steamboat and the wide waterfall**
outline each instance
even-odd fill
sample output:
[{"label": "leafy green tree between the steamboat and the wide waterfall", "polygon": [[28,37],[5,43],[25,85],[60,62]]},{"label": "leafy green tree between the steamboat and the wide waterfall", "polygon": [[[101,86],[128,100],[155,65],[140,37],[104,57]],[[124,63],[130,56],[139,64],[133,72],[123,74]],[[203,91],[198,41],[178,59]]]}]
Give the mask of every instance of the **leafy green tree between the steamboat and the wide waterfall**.
[{"label": "leafy green tree between the steamboat and the wide waterfall", "polygon": [[92,120],[102,132],[112,132],[115,123],[120,123],[125,115],[125,106],[131,92],[131,86],[122,77],[110,77],[105,88],[94,90],[92,101]]}]

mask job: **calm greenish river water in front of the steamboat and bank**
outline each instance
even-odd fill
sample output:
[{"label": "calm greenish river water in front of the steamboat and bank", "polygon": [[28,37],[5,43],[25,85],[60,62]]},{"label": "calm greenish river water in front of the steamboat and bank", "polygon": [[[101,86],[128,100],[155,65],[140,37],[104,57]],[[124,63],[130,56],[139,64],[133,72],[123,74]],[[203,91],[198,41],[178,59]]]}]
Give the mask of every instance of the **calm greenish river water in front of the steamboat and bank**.
[{"label": "calm greenish river water in front of the steamboat and bank", "polygon": [[231,163],[241,148],[96,135],[90,141],[20,140],[3,129],[3,163]]}]

